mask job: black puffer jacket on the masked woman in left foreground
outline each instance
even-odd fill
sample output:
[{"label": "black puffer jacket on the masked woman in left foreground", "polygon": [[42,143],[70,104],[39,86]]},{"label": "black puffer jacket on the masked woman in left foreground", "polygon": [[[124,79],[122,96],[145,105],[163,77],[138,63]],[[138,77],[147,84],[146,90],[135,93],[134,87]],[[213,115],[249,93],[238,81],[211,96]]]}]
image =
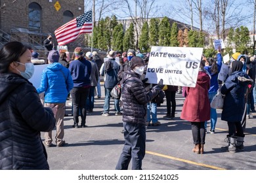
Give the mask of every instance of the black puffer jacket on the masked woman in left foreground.
[{"label": "black puffer jacket on the masked woman in left foreground", "polygon": [[0,74],[0,169],[49,169],[40,131],[55,123],[28,80]]}]

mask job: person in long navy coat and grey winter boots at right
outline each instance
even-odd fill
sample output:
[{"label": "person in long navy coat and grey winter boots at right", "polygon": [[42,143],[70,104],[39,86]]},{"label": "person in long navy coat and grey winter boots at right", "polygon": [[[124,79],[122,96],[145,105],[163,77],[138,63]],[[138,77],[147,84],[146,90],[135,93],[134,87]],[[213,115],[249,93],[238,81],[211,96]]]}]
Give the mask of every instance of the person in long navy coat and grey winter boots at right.
[{"label": "person in long navy coat and grey winter boots at right", "polygon": [[244,129],[241,124],[244,115],[245,92],[247,85],[253,80],[242,71],[242,61],[234,60],[231,63],[231,73],[226,78],[221,93],[225,95],[221,120],[228,123],[228,146],[221,149],[228,152],[240,152],[244,150]]}]

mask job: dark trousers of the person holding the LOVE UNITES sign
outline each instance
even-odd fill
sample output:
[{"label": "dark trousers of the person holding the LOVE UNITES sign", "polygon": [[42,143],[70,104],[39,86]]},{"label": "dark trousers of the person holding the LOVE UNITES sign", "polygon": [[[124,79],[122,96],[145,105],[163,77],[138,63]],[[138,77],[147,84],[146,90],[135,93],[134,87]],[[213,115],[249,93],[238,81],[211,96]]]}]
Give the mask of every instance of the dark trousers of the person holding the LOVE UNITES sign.
[{"label": "dark trousers of the person holding the LOVE UNITES sign", "polygon": [[146,150],[146,126],[123,122],[125,144],[116,170],[127,170],[132,161],[133,170],[141,170]]}]

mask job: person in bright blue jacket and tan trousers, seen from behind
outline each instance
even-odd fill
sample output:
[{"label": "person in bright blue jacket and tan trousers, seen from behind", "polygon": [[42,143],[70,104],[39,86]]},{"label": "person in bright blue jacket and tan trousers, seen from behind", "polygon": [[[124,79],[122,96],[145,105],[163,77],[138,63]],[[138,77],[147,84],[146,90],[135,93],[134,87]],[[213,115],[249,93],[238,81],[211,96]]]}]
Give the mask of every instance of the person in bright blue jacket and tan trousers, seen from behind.
[{"label": "person in bright blue jacket and tan trousers, seen from behind", "polygon": [[[74,84],[70,72],[66,67],[58,63],[60,54],[58,51],[51,50],[47,57],[49,65],[43,70],[41,84],[37,88],[37,93],[45,92],[45,107],[57,107],[56,136],[57,147],[64,146],[64,114],[68,93]],[[45,133],[45,146],[53,146],[53,131]]]}]

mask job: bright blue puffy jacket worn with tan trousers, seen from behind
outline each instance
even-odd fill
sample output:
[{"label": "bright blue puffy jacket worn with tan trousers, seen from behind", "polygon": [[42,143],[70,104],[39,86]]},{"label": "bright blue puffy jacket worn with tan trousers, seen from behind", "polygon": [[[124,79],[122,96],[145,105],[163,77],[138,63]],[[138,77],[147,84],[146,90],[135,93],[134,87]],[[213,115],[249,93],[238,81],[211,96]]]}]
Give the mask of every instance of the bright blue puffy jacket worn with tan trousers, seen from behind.
[{"label": "bright blue puffy jacket worn with tan trousers, seen from behind", "polygon": [[70,71],[60,63],[52,63],[43,70],[37,93],[45,92],[45,103],[66,103],[73,88]]}]

